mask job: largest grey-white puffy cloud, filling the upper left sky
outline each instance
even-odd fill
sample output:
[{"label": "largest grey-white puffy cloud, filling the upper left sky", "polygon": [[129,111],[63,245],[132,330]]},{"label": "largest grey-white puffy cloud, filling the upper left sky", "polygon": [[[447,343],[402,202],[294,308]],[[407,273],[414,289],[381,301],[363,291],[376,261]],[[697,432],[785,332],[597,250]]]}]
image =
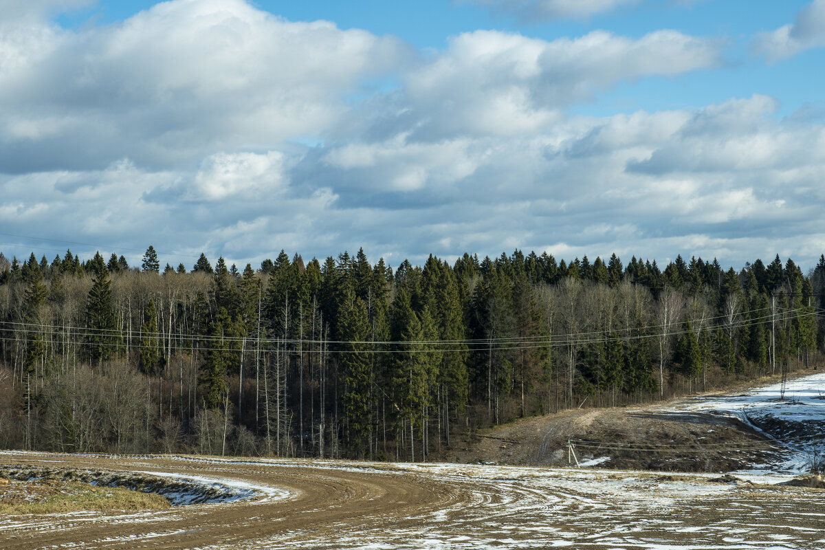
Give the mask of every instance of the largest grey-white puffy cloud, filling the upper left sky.
[{"label": "largest grey-white puffy cloud, filling the upper left sky", "polygon": [[347,93],[406,51],[241,0],[163,2],[111,26],[36,31],[0,33],[4,172],[99,169],[124,156],[171,167],[316,136],[347,110]]}]

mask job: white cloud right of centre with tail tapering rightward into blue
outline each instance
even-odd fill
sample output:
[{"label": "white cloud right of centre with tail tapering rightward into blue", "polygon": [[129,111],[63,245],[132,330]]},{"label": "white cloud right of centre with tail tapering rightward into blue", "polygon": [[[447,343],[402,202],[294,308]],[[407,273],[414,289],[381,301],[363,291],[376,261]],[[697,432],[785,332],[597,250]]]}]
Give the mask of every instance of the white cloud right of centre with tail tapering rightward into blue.
[{"label": "white cloud right of centre with tail tapering rightward into blue", "polygon": [[638,40],[593,31],[552,41],[475,31],[406,74],[405,92],[427,116],[417,134],[517,135],[559,121],[565,108],[617,82],[720,63],[721,43],[676,31]]}]

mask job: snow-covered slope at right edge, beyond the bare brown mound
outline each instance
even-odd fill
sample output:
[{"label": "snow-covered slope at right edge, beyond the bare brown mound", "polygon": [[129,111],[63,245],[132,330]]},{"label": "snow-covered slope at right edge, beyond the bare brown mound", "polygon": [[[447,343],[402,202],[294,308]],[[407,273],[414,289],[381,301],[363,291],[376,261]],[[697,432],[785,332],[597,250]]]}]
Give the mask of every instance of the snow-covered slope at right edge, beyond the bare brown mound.
[{"label": "snow-covered slope at right edge, beyond the bare brown mound", "polygon": [[808,472],[825,457],[825,373],[738,395],[690,397],[680,407],[734,416],[790,449],[789,456],[755,471]]}]

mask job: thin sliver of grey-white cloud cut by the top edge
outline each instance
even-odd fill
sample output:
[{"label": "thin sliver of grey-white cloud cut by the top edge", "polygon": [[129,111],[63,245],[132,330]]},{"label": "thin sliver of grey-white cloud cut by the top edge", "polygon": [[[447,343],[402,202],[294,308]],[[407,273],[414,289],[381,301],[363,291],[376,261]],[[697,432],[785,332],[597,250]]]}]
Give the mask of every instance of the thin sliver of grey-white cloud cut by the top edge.
[{"label": "thin sliver of grey-white cloud cut by the top edge", "polygon": [[510,13],[524,21],[582,19],[617,7],[638,4],[641,0],[464,0],[488,6],[496,12]]}]

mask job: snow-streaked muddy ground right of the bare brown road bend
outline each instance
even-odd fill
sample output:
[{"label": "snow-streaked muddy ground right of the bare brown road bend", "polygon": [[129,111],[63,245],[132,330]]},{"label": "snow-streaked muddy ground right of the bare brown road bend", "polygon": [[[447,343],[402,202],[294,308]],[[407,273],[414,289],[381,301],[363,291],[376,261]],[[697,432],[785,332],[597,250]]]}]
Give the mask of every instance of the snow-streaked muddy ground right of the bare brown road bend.
[{"label": "snow-streaked muddy ground right of the bare brown road bend", "polygon": [[794,499],[775,499],[774,489],[709,482],[714,474],[446,463],[394,468],[447,482],[463,496],[440,510],[410,515],[393,529],[377,524],[354,532],[342,522],[333,526],[334,538],[295,532],[289,538],[258,539],[255,548],[790,550],[825,545],[819,529],[808,527],[825,521],[825,493],[817,491],[799,495],[814,506],[817,517],[811,518],[812,512],[799,510]]}]

